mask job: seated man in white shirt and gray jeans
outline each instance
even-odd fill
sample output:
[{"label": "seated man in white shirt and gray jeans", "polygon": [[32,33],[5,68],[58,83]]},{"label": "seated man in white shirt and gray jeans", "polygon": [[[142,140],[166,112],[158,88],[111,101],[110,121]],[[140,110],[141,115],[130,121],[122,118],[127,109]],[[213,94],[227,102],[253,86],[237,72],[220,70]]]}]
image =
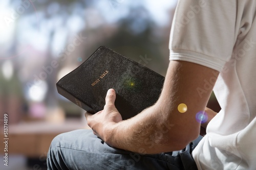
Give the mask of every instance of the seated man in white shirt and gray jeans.
[{"label": "seated man in white shirt and gray jeans", "polygon": [[[95,135],[78,130],[57,136],[48,168],[254,169],[255,31],[253,0],[179,1],[156,104],[122,121],[110,89],[104,110],[86,113]],[[214,86],[222,108],[216,116],[205,109]],[[201,120],[207,120],[207,134],[195,148]]]}]

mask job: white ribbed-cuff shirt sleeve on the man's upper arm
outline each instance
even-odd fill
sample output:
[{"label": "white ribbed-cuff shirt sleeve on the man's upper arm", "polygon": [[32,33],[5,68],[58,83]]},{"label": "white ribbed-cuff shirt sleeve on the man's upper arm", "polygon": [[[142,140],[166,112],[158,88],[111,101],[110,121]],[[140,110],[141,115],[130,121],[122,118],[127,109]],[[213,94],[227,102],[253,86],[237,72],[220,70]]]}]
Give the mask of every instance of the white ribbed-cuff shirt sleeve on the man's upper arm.
[{"label": "white ribbed-cuff shirt sleeve on the man's upper arm", "polygon": [[170,33],[170,60],[221,71],[236,42],[236,1],[180,0]]}]

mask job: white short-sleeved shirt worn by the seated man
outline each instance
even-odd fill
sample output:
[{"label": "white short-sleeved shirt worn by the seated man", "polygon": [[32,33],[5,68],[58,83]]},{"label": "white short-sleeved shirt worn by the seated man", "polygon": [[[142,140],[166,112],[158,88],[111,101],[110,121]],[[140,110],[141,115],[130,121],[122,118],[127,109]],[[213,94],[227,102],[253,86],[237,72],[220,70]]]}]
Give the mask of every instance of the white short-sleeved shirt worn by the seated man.
[{"label": "white short-sleeved shirt worn by the seated man", "polygon": [[170,60],[220,71],[221,111],[193,151],[199,169],[256,169],[256,1],[181,0]]}]

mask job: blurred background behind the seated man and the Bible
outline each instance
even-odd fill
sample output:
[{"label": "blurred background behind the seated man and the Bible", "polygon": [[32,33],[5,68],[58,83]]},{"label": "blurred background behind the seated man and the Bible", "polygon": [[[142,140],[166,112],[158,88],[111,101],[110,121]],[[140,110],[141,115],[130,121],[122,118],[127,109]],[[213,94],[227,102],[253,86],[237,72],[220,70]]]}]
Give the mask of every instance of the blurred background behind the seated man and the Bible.
[{"label": "blurred background behind the seated man and the Bible", "polygon": [[[0,169],[46,169],[59,133],[87,128],[84,111],[56,82],[100,45],[165,76],[177,0],[6,0],[0,2]],[[218,111],[212,94],[209,107]],[[8,153],[8,166],[4,165]]]}]

